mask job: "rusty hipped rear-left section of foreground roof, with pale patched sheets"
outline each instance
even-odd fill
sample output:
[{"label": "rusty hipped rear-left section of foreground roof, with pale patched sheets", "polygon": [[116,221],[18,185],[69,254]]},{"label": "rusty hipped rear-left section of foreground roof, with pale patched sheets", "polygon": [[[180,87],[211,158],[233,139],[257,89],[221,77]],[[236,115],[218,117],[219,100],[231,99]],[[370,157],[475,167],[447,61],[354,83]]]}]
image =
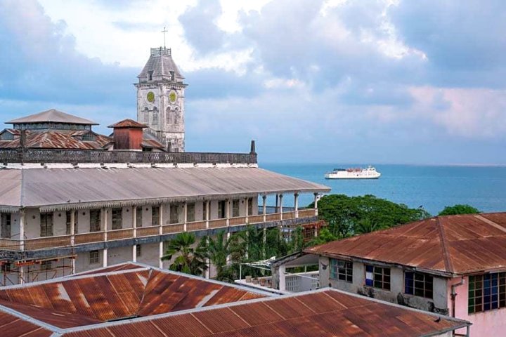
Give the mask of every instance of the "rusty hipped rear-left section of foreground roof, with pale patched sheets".
[{"label": "rusty hipped rear-left section of foreground roof, with pale patched sheets", "polygon": [[250,300],[266,294],[125,263],[91,274],[0,289],[0,313],[11,310],[55,329],[67,329]]}]

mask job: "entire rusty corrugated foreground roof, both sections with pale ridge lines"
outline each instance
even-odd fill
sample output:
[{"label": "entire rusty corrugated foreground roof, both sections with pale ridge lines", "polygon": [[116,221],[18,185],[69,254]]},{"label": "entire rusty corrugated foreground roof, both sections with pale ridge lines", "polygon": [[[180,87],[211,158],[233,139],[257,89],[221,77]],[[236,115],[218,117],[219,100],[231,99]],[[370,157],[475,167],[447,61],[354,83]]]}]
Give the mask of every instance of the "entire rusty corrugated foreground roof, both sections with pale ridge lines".
[{"label": "entire rusty corrugated foreground roof, both sections with pale ridge lines", "polygon": [[279,296],[139,263],[0,289],[3,337],[450,337],[469,325],[335,289]]}]

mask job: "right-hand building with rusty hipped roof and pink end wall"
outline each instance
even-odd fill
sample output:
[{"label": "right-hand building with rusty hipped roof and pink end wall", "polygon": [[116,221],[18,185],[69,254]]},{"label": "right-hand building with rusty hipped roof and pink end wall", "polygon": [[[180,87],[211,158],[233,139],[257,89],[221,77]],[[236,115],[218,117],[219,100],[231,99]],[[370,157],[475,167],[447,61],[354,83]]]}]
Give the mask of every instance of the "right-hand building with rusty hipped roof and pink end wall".
[{"label": "right-hand building with rusty hipped roof and pink end wall", "polygon": [[274,283],[285,289],[287,268],[316,263],[320,286],[465,319],[471,336],[503,336],[505,247],[506,213],[439,216],[288,256]]}]

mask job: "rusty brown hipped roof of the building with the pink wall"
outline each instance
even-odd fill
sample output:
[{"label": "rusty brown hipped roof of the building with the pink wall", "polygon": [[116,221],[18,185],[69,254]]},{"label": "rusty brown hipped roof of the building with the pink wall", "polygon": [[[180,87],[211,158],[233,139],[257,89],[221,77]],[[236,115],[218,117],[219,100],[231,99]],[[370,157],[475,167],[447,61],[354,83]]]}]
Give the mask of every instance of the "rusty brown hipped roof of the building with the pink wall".
[{"label": "rusty brown hipped roof of the building with the pink wall", "polygon": [[506,213],[438,216],[306,249],[441,272],[506,270]]}]

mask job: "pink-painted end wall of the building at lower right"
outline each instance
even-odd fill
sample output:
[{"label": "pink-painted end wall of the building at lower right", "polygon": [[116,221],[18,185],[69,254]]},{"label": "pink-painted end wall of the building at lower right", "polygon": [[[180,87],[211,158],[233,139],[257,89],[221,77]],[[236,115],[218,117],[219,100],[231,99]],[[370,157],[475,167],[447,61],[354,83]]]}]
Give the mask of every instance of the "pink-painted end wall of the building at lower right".
[{"label": "pink-painted end wall of the building at lower right", "polygon": [[[460,277],[448,282],[448,305],[451,306],[451,285],[457,284]],[[455,317],[472,322],[470,336],[505,336],[506,331],[506,308],[488,310],[468,314],[467,300],[469,291],[469,277],[464,277],[465,284],[455,287]],[[465,333],[465,329],[460,329],[459,333]]]}]

